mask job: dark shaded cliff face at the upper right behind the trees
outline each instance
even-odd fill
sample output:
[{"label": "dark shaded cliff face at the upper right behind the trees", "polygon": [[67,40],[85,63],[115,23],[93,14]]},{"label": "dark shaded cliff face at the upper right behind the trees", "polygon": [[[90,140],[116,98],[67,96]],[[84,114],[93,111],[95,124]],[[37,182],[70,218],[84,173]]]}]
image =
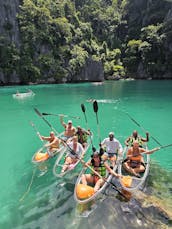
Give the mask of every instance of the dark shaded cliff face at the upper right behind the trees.
[{"label": "dark shaded cliff face at the upper right behind the trees", "polygon": [[[159,35],[164,39],[160,47],[161,52],[158,53],[157,50],[157,57],[155,57],[152,51],[152,63],[155,65],[155,70],[150,73],[147,71],[149,68],[148,65],[145,66],[145,64],[140,61],[137,66],[137,71],[134,72],[132,77],[137,79],[172,79],[172,68],[170,67],[172,56],[172,3],[165,0],[128,1],[126,18],[130,39],[136,40],[141,39],[140,30],[143,27],[149,25],[156,26],[163,23],[162,29],[159,31]],[[156,66],[158,66],[158,70],[156,70]]]}]

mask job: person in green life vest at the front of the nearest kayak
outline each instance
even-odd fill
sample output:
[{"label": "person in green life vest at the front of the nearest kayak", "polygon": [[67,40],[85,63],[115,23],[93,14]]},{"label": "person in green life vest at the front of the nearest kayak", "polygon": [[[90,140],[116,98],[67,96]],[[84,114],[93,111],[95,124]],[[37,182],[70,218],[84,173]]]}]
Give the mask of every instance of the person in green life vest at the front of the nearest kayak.
[{"label": "person in green life vest at the front of the nearest kayak", "polygon": [[[94,192],[97,192],[105,182],[106,170],[115,177],[121,177],[121,175],[114,172],[106,163],[102,160],[101,155],[96,151],[92,155],[92,159],[85,163],[88,168],[91,167],[90,174],[83,174],[81,177],[82,184],[87,185],[87,183],[94,186]],[[95,172],[94,172],[95,171]]]}]

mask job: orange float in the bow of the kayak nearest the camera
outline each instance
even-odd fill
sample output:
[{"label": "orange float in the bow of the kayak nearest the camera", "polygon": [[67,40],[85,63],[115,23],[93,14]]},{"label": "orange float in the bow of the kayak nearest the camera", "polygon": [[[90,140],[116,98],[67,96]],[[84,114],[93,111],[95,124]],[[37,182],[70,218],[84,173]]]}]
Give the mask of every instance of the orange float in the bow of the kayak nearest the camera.
[{"label": "orange float in the bow of the kayak nearest the camera", "polygon": [[78,199],[88,199],[94,194],[94,188],[84,184],[78,184],[76,186],[76,195]]}]

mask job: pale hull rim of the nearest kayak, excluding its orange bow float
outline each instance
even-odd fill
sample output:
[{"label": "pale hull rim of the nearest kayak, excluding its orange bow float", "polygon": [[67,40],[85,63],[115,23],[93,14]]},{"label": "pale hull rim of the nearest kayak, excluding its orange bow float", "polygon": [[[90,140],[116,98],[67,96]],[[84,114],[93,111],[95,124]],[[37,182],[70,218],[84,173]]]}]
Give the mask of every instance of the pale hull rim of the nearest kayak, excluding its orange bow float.
[{"label": "pale hull rim of the nearest kayak, excluding its orange bow float", "polygon": [[[115,166],[114,166],[114,168],[113,168],[113,170],[114,170],[115,172],[116,172],[116,170],[117,170],[117,167],[118,167],[118,165],[119,165],[119,162],[120,162],[120,158],[118,157],[118,158],[117,158],[117,161],[116,161],[116,164],[115,164]],[[100,195],[100,194],[105,190],[105,188],[110,184],[110,181],[112,180],[112,177],[113,177],[113,175],[112,175],[112,174],[109,174],[108,171],[106,170],[106,176],[105,176],[106,181],[104,182],[104,184],[102,185],[102,187],[101,187],[97,192],[92,193],[92,195],[90,195],[88,198],[80,199],[80,198],[78,197],[78,195],[77,195],[77,188],[78,188],[78,185],[82,184],[82,182],[81,182],[81,177],[82,177],[82,175],[83,175],[83,174],[86,174],[86,173],[90,173],[90,171],[87,172],[88,170],[89,170],[89,168],[84,167],[84,168],[82,169],[82,171],[80,172],[80,174],[79,174],[79,176],[78,176],[78,178],[77,178],[77,180],[76,180],[76,183],[75,183],[75,188],[74,188],[74,199],[75,199],[75,201],[76,201],[77,203],[79,203],[79,204],[86,204],[86,203],[88,203],[88,202],[94,200],[94,199],[95,199],[98,195]],[[89,187],[89,186],[87,186],[87,187]]]}]

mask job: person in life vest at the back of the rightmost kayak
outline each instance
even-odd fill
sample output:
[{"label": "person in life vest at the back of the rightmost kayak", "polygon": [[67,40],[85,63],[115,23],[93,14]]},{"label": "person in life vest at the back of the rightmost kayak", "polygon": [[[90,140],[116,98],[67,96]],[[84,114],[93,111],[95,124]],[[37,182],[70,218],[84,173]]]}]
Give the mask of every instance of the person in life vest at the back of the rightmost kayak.
[{"label": "person in life vest at the back of the rightmost kayak", "polygon": [[149,133],[146,132],[146,138],[143,138],[143,137],[138,135],[137,130],[134,130],[132,135],[125,140],[125,145],[126,146],[132,146],[134,141],[138,141],[139,142],[139,146],[142,147],[144,142],[148,142],[149,141]]}]

